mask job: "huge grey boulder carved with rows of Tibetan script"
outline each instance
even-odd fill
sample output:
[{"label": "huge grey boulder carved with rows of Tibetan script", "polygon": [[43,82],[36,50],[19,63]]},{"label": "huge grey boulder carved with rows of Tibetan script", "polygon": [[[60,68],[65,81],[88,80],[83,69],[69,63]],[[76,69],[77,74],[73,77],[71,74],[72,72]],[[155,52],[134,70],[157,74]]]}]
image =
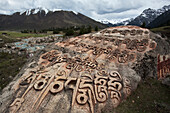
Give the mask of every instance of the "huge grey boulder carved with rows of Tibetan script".
[{"label": "huge grey boulder carved with rows of Tibetan script", "polygon": [[113,112],[142,78],[157,77],[169,43],[137,26],[106,28],[38,51],[2,90],[1,113]]}]

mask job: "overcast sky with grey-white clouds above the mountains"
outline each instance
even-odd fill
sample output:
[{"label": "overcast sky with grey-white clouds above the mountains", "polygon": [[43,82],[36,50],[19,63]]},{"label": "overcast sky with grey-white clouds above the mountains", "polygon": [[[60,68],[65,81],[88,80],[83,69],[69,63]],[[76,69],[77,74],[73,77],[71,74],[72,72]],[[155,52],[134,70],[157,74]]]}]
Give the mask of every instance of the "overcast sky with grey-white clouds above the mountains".
[{"label": "overcast sky with grey-white clouds above the mountains", "polygon": [[80,12],[95,20],[118,21],[134,18],[146,8],[158,9],[170,0],[0,0],[0,14],[43,7]]}]

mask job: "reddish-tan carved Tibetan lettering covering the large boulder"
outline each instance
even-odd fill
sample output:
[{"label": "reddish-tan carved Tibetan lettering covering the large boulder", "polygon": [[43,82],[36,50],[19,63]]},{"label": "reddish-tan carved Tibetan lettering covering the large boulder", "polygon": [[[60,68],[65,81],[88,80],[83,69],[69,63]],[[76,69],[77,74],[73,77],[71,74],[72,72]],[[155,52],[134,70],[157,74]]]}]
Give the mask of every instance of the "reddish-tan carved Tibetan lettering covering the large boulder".
[{"label": "reddish-tan carved Tibetan lettering covering the large boulder", "polygon": [[16,90],[24,93],[18,92],[10,111],[20,112],[31,101],[23,109],[36,112],[49,95],[59,98],[70,92],[71,109],[81,107],[95,113],[96,106],[103,108],[107,102],[117,107],[132,92],[131,80],[119,67],[131,65],[138,56],[156,48],[149,33],[140,27],[116,27],[56,43],[59,49],[42,54],[37,67],[18,80]]}]

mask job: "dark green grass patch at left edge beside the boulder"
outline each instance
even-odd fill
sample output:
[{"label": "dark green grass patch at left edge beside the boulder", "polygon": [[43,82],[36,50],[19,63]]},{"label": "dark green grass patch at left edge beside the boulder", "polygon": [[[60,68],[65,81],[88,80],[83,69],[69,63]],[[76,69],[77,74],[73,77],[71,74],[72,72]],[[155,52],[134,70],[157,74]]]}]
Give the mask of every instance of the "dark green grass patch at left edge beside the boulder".
[{"label": "dark green grass patch at left edge beside the boulder", "polygon": [[26,62],[26,56],[0,53],[0,91],[9,84]]}]

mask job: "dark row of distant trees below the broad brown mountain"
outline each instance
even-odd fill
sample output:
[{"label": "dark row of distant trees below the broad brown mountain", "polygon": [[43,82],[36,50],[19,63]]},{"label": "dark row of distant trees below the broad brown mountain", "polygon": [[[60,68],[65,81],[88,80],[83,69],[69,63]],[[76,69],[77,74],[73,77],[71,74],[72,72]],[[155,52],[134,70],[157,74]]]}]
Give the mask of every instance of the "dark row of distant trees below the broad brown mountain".
[{"label": "dark row of distant trees below the broad brown mountain", "polygon": [[91,33],[92,31],[98,31],[99,28],[96,26],[95,28],[89,26],[72,26],[72,27],[67,27],[67,28],[49,28],[49,29],[43,29],[43,30],[22,30],[21,33],[47,33],[48,31],[52,31],[53,34],[59,34],[59,33],[64,33],[65,36],[77,36],[77,35],[82,35],[82,34],[87,34]]}]

